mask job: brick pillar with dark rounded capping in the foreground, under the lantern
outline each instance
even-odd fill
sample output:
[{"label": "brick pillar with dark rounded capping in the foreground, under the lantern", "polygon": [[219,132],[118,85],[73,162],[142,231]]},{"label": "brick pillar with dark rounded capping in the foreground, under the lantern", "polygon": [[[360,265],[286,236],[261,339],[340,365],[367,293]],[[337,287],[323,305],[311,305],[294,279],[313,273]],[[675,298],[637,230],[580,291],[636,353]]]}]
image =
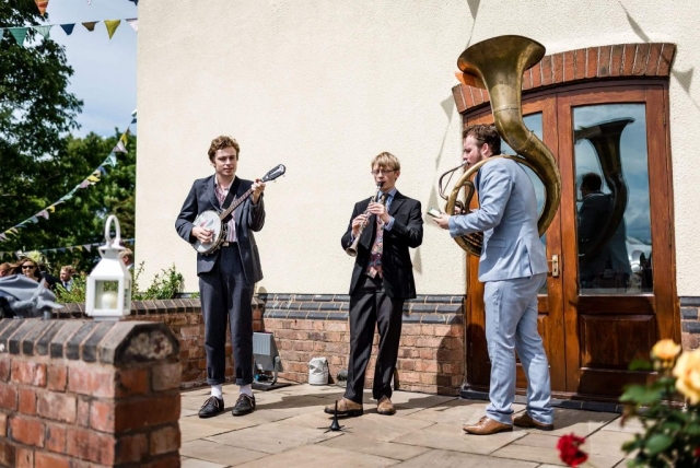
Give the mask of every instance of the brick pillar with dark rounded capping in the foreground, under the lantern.
[{"label": "brick pillar with dark rounded capping in the foreground, under the lantern", "polygon": [[178,359],[163,324],[0,320],[0,466],[179,467]]}]

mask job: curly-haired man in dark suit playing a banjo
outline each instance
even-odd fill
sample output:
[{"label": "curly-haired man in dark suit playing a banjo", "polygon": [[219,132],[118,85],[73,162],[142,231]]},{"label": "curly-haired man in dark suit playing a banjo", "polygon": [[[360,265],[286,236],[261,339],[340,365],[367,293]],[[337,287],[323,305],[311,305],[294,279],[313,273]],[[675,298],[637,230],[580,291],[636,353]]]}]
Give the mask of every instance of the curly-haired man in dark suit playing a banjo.
[{"label": "curly-haired man in dark suit playing a banjo", "polygon": [[[221,385],[225,382],[226,321],[231,326],[235,382],[240,387],[232,413],[243,416],[255,410],[250,301],[255,283],[262,279],[262,270],[253,232],[260,231],[265,224],[265,183],[236,177],[240,152],[238,143],[230,137],[218,137],[211,142],[209,161],[214,174],[195,180],[175,221],[177,234],[188,243],[205,248],[220,247],[198,248],[197,254],[207,383],[211,385],[211,396],[199,410],[200,418],[211,418],[224,409]],[[247,194],[248,190],[252,192]],[[229,208],[234,198],[247,195],[250,197],[223,220],[217,219],[213,224],[199,222],[199,214],[218,213]]]}]

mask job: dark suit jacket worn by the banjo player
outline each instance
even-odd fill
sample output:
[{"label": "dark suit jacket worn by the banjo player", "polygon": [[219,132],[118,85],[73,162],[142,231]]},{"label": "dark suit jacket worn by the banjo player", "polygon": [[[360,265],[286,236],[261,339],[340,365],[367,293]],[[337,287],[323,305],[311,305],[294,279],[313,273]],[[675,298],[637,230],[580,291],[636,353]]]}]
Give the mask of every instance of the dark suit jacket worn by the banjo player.
[{"label": "dark suit jacket worn by the banjo player", "polygon": [[[238,177],[236,177],[238,179]],[[233,182],[233,186],[236,184]],[[235,198],[245,194],[253,180],[240,179]],[[192,188],[185,199],[185,203],[175,221],[177,234],[190,244],[195,244],[196,239],[191,237],[192,222],[195,218],[203,211],[215,210],[221,211],[217,194],[214,192],[214,176],[195,180]],[[233,215],[236,220],[236,238],[238,241],[238,250],[241,251],[241,261],[245,271],[245,278],[250,285],[262,279],[262,269],[260,268],[260,257],[258,255],[258,246],[255,243],[253,232],[258,232],[265,224],[265,202],[262,196],[258,199],[258,204],[253,206],[253,198],[249,197],[238,208],[235,209]],[[219,259],[219,250],[211,255],[197,254],[197,274],[211,271],[214,264]]]}]

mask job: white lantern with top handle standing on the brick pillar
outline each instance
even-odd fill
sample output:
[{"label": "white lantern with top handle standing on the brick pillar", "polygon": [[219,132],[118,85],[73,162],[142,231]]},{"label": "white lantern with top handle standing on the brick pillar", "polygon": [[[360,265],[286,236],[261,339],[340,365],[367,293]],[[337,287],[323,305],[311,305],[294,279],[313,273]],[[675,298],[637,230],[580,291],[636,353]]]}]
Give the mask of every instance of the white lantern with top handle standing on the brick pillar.
[{"label": "white lantern with top handle standing on the brick pillar", "polygon": [[[114,221],[116,238],[109,235],[109,224]],[[131,273],[127,270],[119,253],[124,247],[119,220],[114,214],[105,223],[105,245],[100,247],[102,260],[88,277],[85,314],[95,320],[119,320],[131,313]]]}]

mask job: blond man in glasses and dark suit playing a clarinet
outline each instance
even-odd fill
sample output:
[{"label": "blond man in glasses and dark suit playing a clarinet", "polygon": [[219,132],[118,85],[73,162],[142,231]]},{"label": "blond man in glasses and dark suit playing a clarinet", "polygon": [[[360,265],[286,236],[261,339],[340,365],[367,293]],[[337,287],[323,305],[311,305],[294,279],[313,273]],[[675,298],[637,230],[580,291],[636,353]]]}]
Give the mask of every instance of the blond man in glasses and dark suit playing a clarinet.
[{"label": "blond man in glasses and dark suit playing a clarinet", "polygon": [[[396,180],[401,166],[390,153],[372,160],[378,197],[354,206],[342,248],[355,256],[350,282],[350,361],[345,396],[337,401],[339,416],[362,414],[364,373],[372,352],[375,325],[380,347],[374,368],[373,398],[380,414],[394,414],[392,377],[401,337],[404,301],[416,297],[409,247],[423,241],[420,201],[401,195]],[[336,413],[336,405],[325,408]]]}]

